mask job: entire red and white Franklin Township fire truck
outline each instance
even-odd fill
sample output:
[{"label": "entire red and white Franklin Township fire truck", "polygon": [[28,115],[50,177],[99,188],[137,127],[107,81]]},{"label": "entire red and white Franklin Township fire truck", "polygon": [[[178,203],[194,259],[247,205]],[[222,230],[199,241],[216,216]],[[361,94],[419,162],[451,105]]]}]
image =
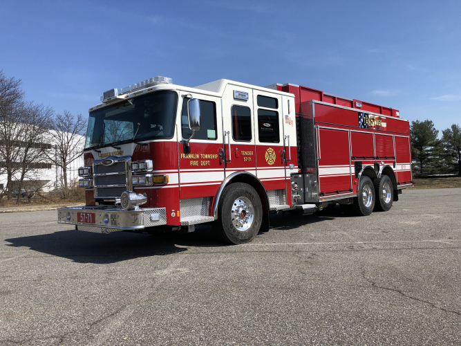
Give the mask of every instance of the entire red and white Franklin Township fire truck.
[{"label": "entire red and white Franklin Township fire truck", "polygon": [[189,88],[164,77],[101,101],[79,168],[86,205],[58,209],[78,230],[211,223],[241,244],[268,230],[272,212],[339,203],[370,215],[413,186],[408,120],[388,107],[295,84]]}]

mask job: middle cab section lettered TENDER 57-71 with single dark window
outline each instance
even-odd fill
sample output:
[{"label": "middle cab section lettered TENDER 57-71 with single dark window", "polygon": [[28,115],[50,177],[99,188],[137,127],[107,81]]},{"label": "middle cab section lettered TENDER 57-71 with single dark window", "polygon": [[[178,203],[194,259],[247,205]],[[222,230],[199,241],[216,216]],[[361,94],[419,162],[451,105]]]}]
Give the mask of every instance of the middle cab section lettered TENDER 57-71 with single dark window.
[{"label": "middle cab section lettered TENDER 57-71 with single dark window", "polygon": [[227,84],[222,102],[225,176],[238,171],[256,175],[252,89]]}]

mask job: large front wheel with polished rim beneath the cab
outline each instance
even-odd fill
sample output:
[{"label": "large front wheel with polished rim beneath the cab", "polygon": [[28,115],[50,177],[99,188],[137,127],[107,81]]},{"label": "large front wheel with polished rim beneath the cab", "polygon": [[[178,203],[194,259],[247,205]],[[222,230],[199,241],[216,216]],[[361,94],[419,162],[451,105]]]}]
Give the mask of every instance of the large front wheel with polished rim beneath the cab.
[{"label": "large front wheel with polished rim beneath the cab", "polygon": [[245,183],[233,183],[223,190],[215,228],[229,244],[251,242],[263,221],[263,205],[258,192]]}]

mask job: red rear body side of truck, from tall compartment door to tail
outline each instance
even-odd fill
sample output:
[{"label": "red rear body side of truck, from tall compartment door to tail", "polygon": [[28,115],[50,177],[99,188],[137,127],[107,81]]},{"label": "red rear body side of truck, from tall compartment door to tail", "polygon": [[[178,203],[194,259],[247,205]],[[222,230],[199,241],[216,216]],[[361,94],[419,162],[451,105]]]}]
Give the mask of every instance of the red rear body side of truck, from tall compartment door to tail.
[{"label": "red rear body side of truck, from tall compartment door to tail", "polygon": [[[372,106],[368,104],[366,107],[371,109]],[[408,121],[367,113],[369,118],[365,122],[362,117],[366,113],[363,111],[364,107],[344,109],[316,102],[310,104],[310,107],[313,107],[311,112],[318,127],[317,155],[321,197],[357,193],[354,170],[356,161],[360,161],[362,167],[374,167],[375,163],[389,165],[395,172],[397,188],[411,185]],[[379,109],[383,110],[390,112],[385,107]]]}]

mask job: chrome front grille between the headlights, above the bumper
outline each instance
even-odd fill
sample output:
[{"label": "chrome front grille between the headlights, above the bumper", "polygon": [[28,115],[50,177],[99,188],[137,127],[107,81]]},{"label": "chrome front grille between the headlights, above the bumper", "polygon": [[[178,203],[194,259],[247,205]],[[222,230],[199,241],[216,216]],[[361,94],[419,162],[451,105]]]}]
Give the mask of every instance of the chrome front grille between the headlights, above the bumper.
[{"label": "chrome front grille between the headlights, above the bumper", "polygon": [[[103,165],[102,163],[108,159],[113,160],[113,164]],[[95,161],[93,164],[93,172],[95,172],[93,176],[96,191],[95,198],[120,198],[122,192],[129,190],[128,179],[130,174],[128,169],[130,167],[130,163],[130,156],[111,156],[109,158],[105,158],[104,160]]]}]

